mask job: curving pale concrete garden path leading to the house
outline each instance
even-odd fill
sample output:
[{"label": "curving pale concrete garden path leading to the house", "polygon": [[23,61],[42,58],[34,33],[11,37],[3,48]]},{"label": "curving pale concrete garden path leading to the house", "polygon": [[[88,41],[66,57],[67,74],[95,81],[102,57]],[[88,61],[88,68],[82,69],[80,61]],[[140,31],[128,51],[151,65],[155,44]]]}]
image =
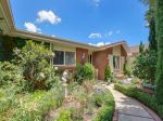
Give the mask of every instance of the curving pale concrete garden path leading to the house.
[{"label": "curving pale concrete garden path leading to the house", "polygon": [[118,121],[161,121],[161,119],[149,108],[123,95],[114,90],[114,85],[106,86],[115,99],[115,110],[117,111],[116,120]]}]

